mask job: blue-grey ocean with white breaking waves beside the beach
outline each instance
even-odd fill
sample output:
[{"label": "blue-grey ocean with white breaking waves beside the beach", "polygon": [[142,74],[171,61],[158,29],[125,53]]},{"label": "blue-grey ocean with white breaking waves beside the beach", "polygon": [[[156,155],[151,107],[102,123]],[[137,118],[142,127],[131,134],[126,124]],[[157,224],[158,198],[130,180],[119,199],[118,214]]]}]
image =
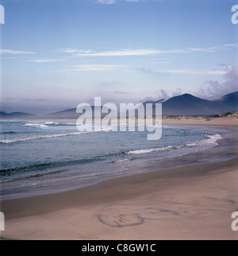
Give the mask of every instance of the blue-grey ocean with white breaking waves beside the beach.
[{"label": "blue-grey ocean with white breaking waves beside the beach", "polygon": [[145,162],[170,162],[210,149],[225,136],[222,130],[202,126],[163,126],[158,141],[148,141],[148,133],[138,131],[80,133],[75,122],[0,122],[0,126],[1,200],[145,173]]}]

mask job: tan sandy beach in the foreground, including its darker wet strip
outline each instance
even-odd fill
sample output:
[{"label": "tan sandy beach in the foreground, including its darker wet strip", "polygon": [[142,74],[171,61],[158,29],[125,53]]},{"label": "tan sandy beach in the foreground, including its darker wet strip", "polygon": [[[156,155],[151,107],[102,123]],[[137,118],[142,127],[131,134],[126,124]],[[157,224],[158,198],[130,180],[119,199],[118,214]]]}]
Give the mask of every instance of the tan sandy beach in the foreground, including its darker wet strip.
[{"label": "tan sandy beach in the foreground, including its darker wet strip", "polygon": [[238,157],[232,157],[2,201],[1,238],[236,240],[231,215],[238,211],[237,167]]}]

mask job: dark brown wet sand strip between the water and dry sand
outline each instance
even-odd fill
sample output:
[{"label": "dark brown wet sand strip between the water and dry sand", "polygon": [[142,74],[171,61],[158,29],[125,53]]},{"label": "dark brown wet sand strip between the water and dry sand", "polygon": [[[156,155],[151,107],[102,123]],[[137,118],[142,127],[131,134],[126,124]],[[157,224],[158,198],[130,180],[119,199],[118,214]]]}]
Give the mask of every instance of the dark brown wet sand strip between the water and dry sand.
[{"label": "dark brown wet sand strip between the water and dry sand", "polygon": [[[233,158],[229,161],[205,163],[200,165],[184,165],[178,168],[151,171],[148,173],[138,173],[129,176],[121,176],[109,180],[104,180],[91,186],[77,188],[66,192],[57,192],[41,196],[23,197],[12,200],[2,200],[1,208],[2,211],[6,214],[6,220],[10,220],[29,217],[32,215],[41,215],[50,211],[57,211],[63,208],[75,207],[76,205],[82,207],[90,206],[91,204],[95,204],[94,200],[96,197],[98,197],[96,200],[97,204],[102,204],[105,203],[104,196],[106,196],[106,200],[109,200],[110,197],[113,197],[113,195],[109,196],[107,194],[108,189],[121,187],[125,184],[143,184],[152,180],[159,180],[168,177],[173,178],[183,176],[202,176],[205,173],[214,171],[218,172],[218,170],[220,169],[224,169],[225,167],[233,167],[236,164],[238,166],[238,157]],[[98,191],[103,192],[103,196],[96,195]],[[123,195],[122,192],[121,195]],[[133,197],[134,195],[129,194],[127,196]],[[123,199],[124,197],[122,197],[121,199]],[[71,200],[67,200],[67,198],[71,198]],[[117,198],[117,200],[120,199]],[[31,202],[31,204],[29,204],[29,202]],[[32,206],[31,209],[26,207],[28,204]]]}]

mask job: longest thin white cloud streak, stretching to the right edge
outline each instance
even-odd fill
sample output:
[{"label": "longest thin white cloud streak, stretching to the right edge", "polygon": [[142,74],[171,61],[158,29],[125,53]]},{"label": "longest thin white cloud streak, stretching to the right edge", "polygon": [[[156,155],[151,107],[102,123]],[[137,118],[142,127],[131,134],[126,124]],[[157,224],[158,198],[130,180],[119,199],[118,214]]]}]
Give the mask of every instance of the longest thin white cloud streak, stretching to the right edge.
[{"label": "longest thin white cloud streak, stretching to the right edge", "polygon": [[110,56],[155,56],[162,54],[177,54],[177,53],[193,53],[193,52],[221,52],[228,51],[238,48],[238,45],[217,45],[208,48],[183,48],[183,49],[169,49],[169,50],[159,50],[159,49],[120,49],[115,51],[103,51],[96,52],[92,50],[79,50],[77,48],[62,48],[57,52],[70,53],[72,56],[78,57],[110,57]]}]

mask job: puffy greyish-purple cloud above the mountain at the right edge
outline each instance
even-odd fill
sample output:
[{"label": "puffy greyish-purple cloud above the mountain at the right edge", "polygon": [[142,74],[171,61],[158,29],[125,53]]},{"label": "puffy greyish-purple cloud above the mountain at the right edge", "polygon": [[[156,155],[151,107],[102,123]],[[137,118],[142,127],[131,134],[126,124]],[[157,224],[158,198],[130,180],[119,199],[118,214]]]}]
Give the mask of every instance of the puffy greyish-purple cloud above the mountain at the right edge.
[{"label": "puffy greyish-purple cloud above the mountain at the right edge", "polygon": [[[228,66],[224,66],[227,68]],[[209,95],[209,97],[218,98],[234,91],[238,91],[238,67],[233,66],[225,72],[223,82],[217,80],[206,81],[202,89],[199,91],[200,95]]]}]

